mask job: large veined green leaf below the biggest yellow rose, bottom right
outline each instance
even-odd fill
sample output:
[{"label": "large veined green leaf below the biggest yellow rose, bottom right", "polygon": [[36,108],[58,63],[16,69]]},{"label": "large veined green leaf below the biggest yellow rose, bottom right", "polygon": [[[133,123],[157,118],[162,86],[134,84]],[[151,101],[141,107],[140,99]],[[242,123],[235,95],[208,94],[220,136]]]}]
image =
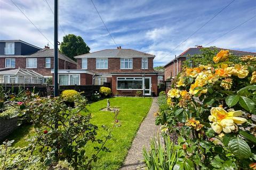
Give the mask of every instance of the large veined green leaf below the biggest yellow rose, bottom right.
[{"label": "large veined green leaf below the biggest yellow rose, bottom right", "polygon": [[249,145],[241,138],[234,138],[229,141],[228,149],[239,159],[246,159],[251,156]]}]

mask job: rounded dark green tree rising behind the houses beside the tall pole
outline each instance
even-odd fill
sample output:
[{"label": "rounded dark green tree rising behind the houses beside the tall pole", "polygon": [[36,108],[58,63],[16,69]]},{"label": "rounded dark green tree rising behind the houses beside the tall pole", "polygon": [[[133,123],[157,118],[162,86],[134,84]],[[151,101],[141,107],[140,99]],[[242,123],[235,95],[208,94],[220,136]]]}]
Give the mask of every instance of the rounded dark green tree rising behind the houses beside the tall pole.
[{"label": "rounded dark green tree rising behind the houses beside the tall pole", "polygon": [[75,60],[74,56],[90,53],[90,47],[86,45],[82,37],[69,34],[63,37],[60,51],[62,54]]}]

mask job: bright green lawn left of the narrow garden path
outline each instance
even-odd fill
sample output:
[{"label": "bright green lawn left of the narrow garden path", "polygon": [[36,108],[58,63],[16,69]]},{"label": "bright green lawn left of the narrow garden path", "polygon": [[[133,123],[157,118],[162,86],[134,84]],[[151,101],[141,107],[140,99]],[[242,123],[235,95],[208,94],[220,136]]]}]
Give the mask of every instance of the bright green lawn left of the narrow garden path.
[{"label": "bright green lawn left of the narrow garden path", "polygon": [[[114,128],[112,133],[113,138],[106,143],[106,147],[108,147],[111,152],[100,152],[100,159],[97,163],[93,163],[93,169],[119,169],[119,167],[122,166],[127,152],[131,147],[132,140],[141,122],[147,115],[152,102],[152,98],[142,97],[115,97],[109,100],[110,107],[118,107],[120,109],[117,119],[119,120],[118,124],[121,126]],[[101,128],[101,125],[106,125],[111,128],[114,123],[114,113],[100,111],[102,108],[106,108],[106,106],[107,99],[100,100],[87,106],[88,111],[82,113],[91,113],[91,123],[98,125],[99,130],[97,138],[100,139],[104,139],[107,135],[107,132]],[[15,147],[23,147],[28,145],[27,139],[33,134],[33,126],[22,125],[7,138],[15,140]],[[93,145],[89,143],[89,145],[85,147],[86,152],[94,154],[94,146],[95,143],[93,143]]]}]

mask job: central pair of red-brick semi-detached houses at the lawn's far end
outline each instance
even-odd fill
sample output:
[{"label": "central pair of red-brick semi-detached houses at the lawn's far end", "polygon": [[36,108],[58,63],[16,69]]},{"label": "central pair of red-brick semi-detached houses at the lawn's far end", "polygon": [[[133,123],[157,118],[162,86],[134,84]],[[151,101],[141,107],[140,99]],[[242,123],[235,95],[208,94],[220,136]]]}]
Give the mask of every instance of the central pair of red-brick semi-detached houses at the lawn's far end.
[{"label": "central pair of red-brick semi-detached houses at the lawn's far end", "polygon": [[157,95],[157,72],[153,69],[155,55],[118,47],[75,58],[76,71],[59,71],[60,85],[74,84],[75,76],[81,85],[110,83],[114,95],[135,95],[137,91],[142,91],[143,95]]}]

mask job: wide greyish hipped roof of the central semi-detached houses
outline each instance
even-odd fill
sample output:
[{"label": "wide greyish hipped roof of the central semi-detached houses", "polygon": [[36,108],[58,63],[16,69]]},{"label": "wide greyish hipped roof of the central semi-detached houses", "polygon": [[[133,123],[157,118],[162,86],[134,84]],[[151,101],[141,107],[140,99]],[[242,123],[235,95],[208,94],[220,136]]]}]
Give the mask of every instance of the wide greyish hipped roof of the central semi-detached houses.
[{"label": "wide greyish hipped roof of the central semi-detached houses", "polygon": [[98,52],[75,56],[75,58],[84,57],[155,57],[155,55],[139,52],[134,49],[103,49]]}]

